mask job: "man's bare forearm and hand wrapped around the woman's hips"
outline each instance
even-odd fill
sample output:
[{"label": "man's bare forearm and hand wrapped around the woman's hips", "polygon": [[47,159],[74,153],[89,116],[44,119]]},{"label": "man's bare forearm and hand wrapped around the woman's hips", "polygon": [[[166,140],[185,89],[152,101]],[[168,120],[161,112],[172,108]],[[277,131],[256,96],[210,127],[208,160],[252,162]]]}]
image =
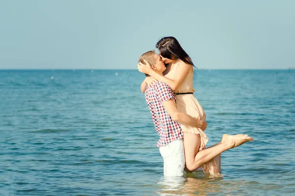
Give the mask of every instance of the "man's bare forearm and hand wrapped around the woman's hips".
[{"label": "man's bare forearm and hand wrapped around the woman's hips", "polygon": [[200,127],[203,131],[207,128],[207,122],[205,120],[198,120],[188,114],[179,112],[173,99],[168,99],[164,101],[163,106],[168,114],[171,116],[171,118],[177,123]]}]

